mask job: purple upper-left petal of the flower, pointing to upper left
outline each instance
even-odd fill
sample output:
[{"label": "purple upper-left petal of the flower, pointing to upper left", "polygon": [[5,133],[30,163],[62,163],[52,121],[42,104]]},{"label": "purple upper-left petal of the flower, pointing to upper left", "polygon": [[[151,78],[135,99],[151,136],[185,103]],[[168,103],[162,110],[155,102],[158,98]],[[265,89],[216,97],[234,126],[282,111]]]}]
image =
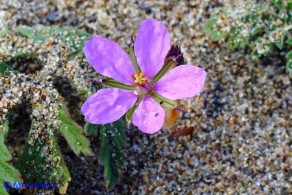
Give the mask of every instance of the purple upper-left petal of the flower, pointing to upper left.
[{"label": "purple upper-left petal of the flower, pointing to upper left", "polygon": [[94,35],[85,43],[84,54],[89,64],[100,74],[124,84],[133,84],[134,66],[126,52],[115,42]]}]

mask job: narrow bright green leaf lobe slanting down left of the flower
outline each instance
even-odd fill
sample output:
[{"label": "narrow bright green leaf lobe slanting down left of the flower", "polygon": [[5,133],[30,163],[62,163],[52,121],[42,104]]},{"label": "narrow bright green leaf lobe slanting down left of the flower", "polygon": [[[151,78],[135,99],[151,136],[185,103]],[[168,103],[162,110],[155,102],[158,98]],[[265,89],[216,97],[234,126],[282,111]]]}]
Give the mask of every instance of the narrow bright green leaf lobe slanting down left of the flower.
[{"label": "narrow bright green leaf lobe slanting down left of the flower", "polygon": [[82,134],[82,128],[69,116],[64,105],[59,110],[60,131],[76,155],[93,155],[89,140]]}]

